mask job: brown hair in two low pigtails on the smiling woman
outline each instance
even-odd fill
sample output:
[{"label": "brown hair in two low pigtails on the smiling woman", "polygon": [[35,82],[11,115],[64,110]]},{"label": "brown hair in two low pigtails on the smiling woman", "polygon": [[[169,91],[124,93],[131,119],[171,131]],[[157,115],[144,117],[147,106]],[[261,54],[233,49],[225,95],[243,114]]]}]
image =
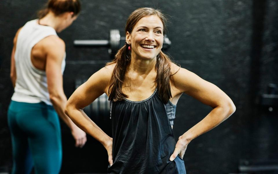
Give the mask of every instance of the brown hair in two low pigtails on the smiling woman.
[{"label": "brown hair in two low pigtails on the smiling woman", "polygon": [[[132,12],[127,19],[127,23],[125,26],[125,32],[131,33],[133,27],[136,23],[142,18],[146,16],[157,15],[163,24],[163,35],[164,31],[166,30],[166,22],[167,19],[160,10],[156,10],[153,8],[138,8],[134,12]],[[111,77],[111,84],[109,86],[109,100],[114,102],[127,98],[128,96],[122,92],[122,84],[125,80],[125,75],[127,73],[127,66],[129,66],[131,61],[131,51],[128,50],[128,46],[125,45],[120,50],[118,50],[117,54],[115,55],[115,59],[107,65],[111,65],[116,63],[114,68],[112,77]],[[171,94],[171,86],[170,86],[170,78],[171,75],[171,59],[164,54],[161,50],[159,54],[156,56],[156,84],[158,95],[162,99],[163,103],[167,103],[169,99],[172,97]]]}]

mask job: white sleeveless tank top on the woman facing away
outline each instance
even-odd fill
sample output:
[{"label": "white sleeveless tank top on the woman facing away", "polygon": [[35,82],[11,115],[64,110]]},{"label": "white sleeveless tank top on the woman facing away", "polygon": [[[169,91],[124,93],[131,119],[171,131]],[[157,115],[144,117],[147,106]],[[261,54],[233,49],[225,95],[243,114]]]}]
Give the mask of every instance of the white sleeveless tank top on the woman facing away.
[{"label": "white sleeveless tank top on the woman facing away", "polygon": [[[35,44],[43,38],[55,35],[54,28],[37,23],[38,19],[27,22],[17,36],[14,53],[17,79],[12,100],[16,102],[39,103],[52,105],[47,89],[45,71],[39,70],[32,64],[31,51]],[[57,36],[58,37],[58,36]],[[62,73],[65,69],[65,56],[62,62]]]}]

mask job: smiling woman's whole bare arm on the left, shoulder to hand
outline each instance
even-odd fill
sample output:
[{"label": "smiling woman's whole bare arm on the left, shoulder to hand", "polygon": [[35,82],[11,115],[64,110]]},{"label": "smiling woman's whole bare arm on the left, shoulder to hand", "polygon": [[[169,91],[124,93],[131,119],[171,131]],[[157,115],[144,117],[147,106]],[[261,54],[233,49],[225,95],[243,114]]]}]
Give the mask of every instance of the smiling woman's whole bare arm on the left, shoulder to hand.
[{"label": "smiling woman's whole bare arm on the left, shoulder to hand", "polygon": [[111,70],[102,68],[94,73],[84,84],[79,86],[67,102],[65,113],[83,131],[94,137],[106,148],[108,160],[112,165],[112,138],[103,132],[83,111],[85,106],[105,93],[109,86]]}]

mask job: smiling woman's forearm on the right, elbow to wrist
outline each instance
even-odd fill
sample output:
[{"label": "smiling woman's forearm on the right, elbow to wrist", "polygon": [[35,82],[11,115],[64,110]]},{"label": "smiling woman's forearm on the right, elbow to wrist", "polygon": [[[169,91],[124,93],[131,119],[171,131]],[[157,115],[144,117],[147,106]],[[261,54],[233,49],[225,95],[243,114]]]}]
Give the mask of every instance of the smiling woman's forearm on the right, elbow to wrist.
[{"label": "smiling woman's forearm on the right, elbow to wrist", "polygon": [[180,138],[191,141],[199,135],[202,135],[203,133],[206,133],[218,126],[228,117],[230,117],[234,112],[234,104],[217,106],[213,108],[213,110],[211,110],[211,112],[206,117],[204,117],[204,119],[202,119],[199,123],[190,128],[188,131],[186,131]]}]

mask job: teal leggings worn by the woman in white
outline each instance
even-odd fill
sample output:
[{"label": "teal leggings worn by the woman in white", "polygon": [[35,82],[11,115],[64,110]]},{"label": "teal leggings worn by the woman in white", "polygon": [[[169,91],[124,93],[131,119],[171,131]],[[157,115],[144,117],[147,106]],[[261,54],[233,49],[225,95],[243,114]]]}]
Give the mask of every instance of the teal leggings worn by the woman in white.
[{"label": "teal leggings worn by the woman in white", "polygon": [[52,106],[11,101],[8,125],[12,135],[12,174],[57,174],[62,163],[61,128]]}]

